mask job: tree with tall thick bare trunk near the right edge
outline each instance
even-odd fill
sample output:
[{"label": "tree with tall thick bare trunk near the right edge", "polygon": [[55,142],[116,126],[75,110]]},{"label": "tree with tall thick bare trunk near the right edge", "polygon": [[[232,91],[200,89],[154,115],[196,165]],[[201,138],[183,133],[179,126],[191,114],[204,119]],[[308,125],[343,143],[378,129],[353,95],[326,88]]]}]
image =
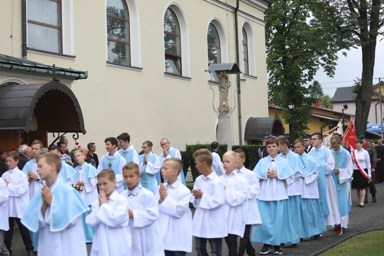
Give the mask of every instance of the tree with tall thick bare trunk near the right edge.
[{"label": "tree with tall thick bare trunk near the right edge", "polygon": [[[380,0],[314,0],[311,5],[316,24],[333,40],[329,47],[344,44],[344,48],[361,47],[361,83],[355,84],[357,93],[356,122],[357,134],[364,134],[371,107],[373,70],[377,36],[383,34],[383,2]],[[358,83],[358,82],[357,82]]]}]

